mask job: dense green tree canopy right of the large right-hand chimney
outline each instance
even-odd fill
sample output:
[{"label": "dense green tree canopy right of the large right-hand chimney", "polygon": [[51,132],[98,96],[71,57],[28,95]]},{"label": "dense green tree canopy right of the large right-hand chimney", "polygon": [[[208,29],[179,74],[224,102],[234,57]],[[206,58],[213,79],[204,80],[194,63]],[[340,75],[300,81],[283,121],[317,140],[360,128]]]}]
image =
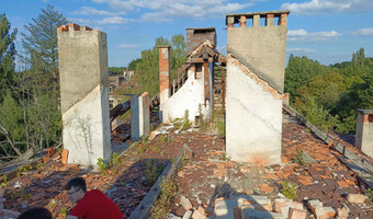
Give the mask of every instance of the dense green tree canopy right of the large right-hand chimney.
[{"label": "dense green tree canopy right of the large right-hand chimney", "polygon": [[373,58],[364,48],[351,61],[326,67],[306,57],[289,59],[285,91],[291,104],[316,125],[354,134],[357,108],[373,108]]}]

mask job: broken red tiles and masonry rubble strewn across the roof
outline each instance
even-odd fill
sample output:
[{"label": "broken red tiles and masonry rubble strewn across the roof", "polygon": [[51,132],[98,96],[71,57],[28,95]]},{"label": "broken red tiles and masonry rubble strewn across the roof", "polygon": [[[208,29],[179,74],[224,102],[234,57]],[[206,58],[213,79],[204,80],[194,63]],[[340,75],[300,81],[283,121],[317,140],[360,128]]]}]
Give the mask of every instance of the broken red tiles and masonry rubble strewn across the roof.
[{"label": "broken red tiles and masonry rubble strewn across the roof", "polygon": [[[113,140],[125,138],[125,130],[122,129],[124,127],[128,128],[121,126],[117,132],[113,134]],[[156,132],[158,135],[155,135]],[[33,170],[22,171],[19,176],[7,182],[4,208],[22,211],[27,207],[42,205],[53,211],[55,218],[64,218],[61,212],[71,206],[60,188],[69,178],[80,175],[87,180],[89,189],[105,191],[123,215],[129,217],[151,187],[146,178],[149,163],[157,166],[156,170],[160,174],[187,143],[193,158],[174,176],[179,187],[172,207],[174,218],[188,215],[200,218],[214,217],[214,211],[223,211],[224,203],[227,203],[226,206],[233,206],[231,200],[239,196],[271,200],[271,205],[262,200],[239,200],[239,205],[230,211],[241,214],[241,217],[248,217],[247,215],[252,212],[264,214],[257,210],[281,215],[285,211],[294,218],[304,214],[306,218],[314,217],[315,214],[336,214],[339,218],[373,217],[373,205],[370,200],[365,198],[361,203],[364,197],[360,187],[362,182],[338,160],[337,157],[341,154],[293,118],[283,124],[284,165],[267,168],[229,161],[224,151],[224,139],[214,132],[197,128],[180,130],[170,124],[156,129],[150,136],[154,138],[148,142],[131,143],[133,146],[125,150],[120,164],[113,164],[106,171],[92,171],[78,164],[63,164],[56,150],[49,160],[45,159],[45,163],[41,162]],[[315,162],[295,163],[294,154],[298,150],[305,151]],[[46,157],[48,155],[46,152]],[[296,197],[292,201],[279,198],[279,193],[283,193],[281,183],[284,181],[296,184]],[[191,203],[192,208],[189,206],[189,210],[182,206],[182,196]],[[304,210],[301,207],[287,208],[282,206],[281,201],[283,205],[302,204]],[[310,204],[315,206],[314,210],[309,207]],[[218,206],[221,207],[217,209]],[[216,212],[215,216],[217,217]]]}]

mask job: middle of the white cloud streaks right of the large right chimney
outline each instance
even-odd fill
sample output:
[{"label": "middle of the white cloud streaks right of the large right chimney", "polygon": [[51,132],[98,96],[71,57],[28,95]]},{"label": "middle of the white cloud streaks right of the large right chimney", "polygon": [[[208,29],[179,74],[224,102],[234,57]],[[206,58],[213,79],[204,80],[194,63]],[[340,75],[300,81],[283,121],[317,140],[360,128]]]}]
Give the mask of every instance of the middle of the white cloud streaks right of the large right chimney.
[{"label": "middle of the white cloud streaks right of the large right chimney", "polygon": [[307,33],[305,30],[294,30],[287,32],[287,41],[289,42],[308,42],[308,43],[318,43],[318,42],[330,42],[338,38],[341,34],[336,31],[326,31],[326,32],[314,32]]}]

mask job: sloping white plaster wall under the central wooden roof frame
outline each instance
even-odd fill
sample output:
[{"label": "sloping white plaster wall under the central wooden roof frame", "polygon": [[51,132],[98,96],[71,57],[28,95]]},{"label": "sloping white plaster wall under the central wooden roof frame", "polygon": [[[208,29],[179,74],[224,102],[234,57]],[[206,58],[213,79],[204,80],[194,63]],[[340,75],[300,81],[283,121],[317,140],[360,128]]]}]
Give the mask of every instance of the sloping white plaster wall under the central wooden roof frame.
[{"label": "sloping white plaster wall under the central wooden roof frame", "polygon": [[188,70],[188,80],[185,83],[162,104],[163,122],[168,123],[174,118],[184,117],[185,111],[189,111],[189,120],[194,122],[195,116],[200,116],[199,106],[202,106],[203,116],[211,117],[211,105],[208,101],[204,102],[204,67],[202,67],[202,77],[195,78],[195,68]]}]

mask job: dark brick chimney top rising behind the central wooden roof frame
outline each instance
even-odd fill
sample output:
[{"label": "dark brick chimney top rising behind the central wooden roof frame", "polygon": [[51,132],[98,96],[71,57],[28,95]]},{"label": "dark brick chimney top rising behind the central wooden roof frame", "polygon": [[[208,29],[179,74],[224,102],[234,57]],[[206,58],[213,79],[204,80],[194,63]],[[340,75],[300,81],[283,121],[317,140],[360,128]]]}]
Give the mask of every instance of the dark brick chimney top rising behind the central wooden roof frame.
[{"label": "dark brick chimney top rising behind the central wooden roof frame", "polygon": [[214,48],[216,46],[216,32],[214,27],[187,28],[187,54],[193,51],[205,39],[208,39]]}]

